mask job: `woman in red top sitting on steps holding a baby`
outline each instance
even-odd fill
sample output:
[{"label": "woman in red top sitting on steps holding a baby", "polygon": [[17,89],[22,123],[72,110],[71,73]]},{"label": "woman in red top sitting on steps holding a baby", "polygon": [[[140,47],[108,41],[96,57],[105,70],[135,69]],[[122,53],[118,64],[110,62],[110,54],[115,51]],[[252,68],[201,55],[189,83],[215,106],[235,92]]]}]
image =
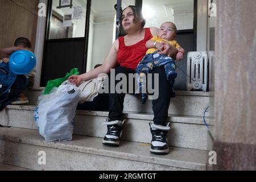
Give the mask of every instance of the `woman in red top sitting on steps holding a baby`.
[{"label": "woman in red top sitting on steps holding a baby", "polygon": [[[156,27],[143,28],[145,20],[142,11],[138,7],[128,6],[122,13],[122,26],[127,32],[126,36],[119,37],[115,40],[109,55],[104,63],[88,73],[83,75],[73,75],[69,77],[69,81],[79,85],[81,81],[96,78],[100,73],[109,73],[110,69],[115,69],[115,75],[124,73],[135,73],[135,69],[146,54],[145,46],[147,40],[158,34],[159,29]],[[176,55],[177,49],[173,46],[166,45],[162,52],[165,55]],[[119,64],[119,66],[117,66]],[[152,110],[154,112],[154,123],[150,123],[150,131],[152,134],[150,151],[154,154],[168,154],[169,147],[166,140],[167,131],[170,130],[170,123],[167,123],[168,107],[170,105],[172,88],[170,82],[166,78],[163,67],[154,69],[154,74],[159,74],[159,97],[152,101]],[[110,78],[111,79],[111,78]],[[115,85],[119,81],[115,81]],[[108,146],[119,146],[119,138],[122,134],[123,101],[125,93],[109,94],[109,118],[105,124],[108,132],[105,135],[103,144]]]}]

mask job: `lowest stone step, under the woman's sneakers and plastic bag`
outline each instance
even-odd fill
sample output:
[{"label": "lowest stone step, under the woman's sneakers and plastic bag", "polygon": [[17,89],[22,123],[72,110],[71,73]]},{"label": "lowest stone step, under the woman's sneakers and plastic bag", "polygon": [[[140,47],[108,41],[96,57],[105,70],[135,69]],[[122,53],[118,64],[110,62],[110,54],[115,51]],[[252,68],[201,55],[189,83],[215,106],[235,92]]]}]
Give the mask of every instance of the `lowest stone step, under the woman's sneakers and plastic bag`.
[{"label": "lowest stone step, under the woman's sneakers and plastic bag", "polygon": [[[101,138],[74,135],[66,142],[44,142],[36,130],[0,128],[0,162],[34,170],[205,170],[208,152],[173,147],[150,154],[150,146],[122,142],[104,146]],[[43,156],[42,156],[43,154]],[[46,156],[46,164],[38,163]]]}]

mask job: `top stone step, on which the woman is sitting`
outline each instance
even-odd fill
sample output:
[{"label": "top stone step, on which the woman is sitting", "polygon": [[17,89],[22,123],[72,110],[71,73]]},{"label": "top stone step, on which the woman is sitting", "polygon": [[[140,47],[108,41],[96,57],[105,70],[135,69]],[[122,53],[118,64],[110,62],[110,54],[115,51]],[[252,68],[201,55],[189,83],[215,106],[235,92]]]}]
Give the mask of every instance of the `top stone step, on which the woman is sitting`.
[{"label": "top stone step, on which the woman is sitting", "polygon": [[[43,93],[44,88],[33,87],[25,90],[30,105],[37,105],[37,98]],[[176,97],[171,99],[168,113],[177,115],[193,115],[201,117],[205,109],[209,106],[209,92],[176,91]],[[152,113],[152,101],[141,104],[139,96],[126,94],[123,111],[133,111],[141,113]],[[211,112],[205,113],[207,117],[213,117]],[[213,112],[212,112],[213,113]]]}]

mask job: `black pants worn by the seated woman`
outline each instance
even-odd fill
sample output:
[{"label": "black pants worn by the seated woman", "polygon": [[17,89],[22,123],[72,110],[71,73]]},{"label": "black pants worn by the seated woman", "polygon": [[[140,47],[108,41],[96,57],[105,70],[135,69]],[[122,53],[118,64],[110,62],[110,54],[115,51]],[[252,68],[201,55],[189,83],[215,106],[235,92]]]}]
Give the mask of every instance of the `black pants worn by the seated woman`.
[{"label": "black pants worn by the seated woman", "polygon": [[[126,75],[128,80],[129,73],[135,73],[133,69],[125,68],[125,67],[116,67],[115,68],[115,76],[118,73],[123,73]],[[152,72],[152,84],[154,85],[154,74],[159,74],[159,97],[156,100],[152,100],[152,109],[154,112],[154,123],[156,125],[166,125],[166,120],[168,117],[168,108],[171,100],[172,88],[170,81],[166,78],[166,72],[163,67],[156,68]],[[110,80],[113,78],[110,77]],[[109,83],[110,83],[109,80]],[[115,80],[115,79],[114,79]],[[119,80],[115,80],[115,85],[119,82]],[[110,85],[110,84],[109,84]],[[153,86],[154,87],[154,86]],[[110,89],[110,87],[109,87]],[[128,85],[127,85],[128,90]],[[122,120],[123,113],[123,101],[125,98],[125,93],[109,93],[109,120]]]}]

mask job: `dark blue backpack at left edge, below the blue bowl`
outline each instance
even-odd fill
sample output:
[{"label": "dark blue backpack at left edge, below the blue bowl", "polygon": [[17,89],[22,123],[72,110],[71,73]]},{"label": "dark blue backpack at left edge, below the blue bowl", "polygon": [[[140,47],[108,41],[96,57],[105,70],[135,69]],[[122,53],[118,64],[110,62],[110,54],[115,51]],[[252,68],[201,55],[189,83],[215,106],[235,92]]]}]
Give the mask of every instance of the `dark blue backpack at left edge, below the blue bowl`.
[{"label": "dark blue backpack at left edge, below the blue bowl", "polygon": [[12,101],[9,94],[16,77],[17,75],[10,71],[9,64],[0,63],[0,111]]}]

